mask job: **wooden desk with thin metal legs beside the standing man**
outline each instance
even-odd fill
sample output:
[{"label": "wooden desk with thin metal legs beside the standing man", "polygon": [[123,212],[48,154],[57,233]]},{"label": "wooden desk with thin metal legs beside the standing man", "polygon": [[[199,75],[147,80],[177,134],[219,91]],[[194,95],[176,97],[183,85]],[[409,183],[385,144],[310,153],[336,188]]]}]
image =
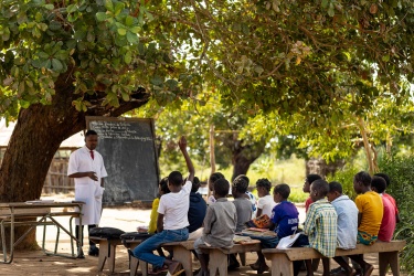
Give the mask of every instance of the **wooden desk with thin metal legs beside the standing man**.
[{"label": "wooden desk with thin metal legs beside the standing man", "polygon": [[[57,255],[64,257],[76,258],[82,253],[81,242],[72,233],[72,221],[74,217],[79,219],[79,224],[82,225],[82,206],[85,204],[81,201],[72,202],[40,202],[40,203],[26,203],[26,202],[9,202],[0,203],[0,227],[1,227],[1,245],[3,250],[3,259],[0,263],[10,264],[13,261],[14,246],[17,246],[23,238],[36,226],[43,226],[43,241],[42,250],[46,255]],[[57,210],[63,209],[63,210]],[[73,211],[65,211],[66,209],[73,209]],[[70,230],[65,229],[61,223],[59,223],[56,216],[70,216]],[[18,220],[18,221],[17,221]],[[24,232],[18,241],[14,242],[14,229],[19,225],[30,226],[26,232]],[[46,226],[54,225],[57,227],[56,241],[54,252],[45,250],[45,234]],[[10,253],[7,252],[7,241],[6,241],[6,226],[10,226]],[[79,236],[81,230],[79,227]],[[60,231],[64,231],[71,238],[72,254],[59,254],[57,244],[60,237]],[[74,253],[73,242],[76,242],[77,253]]]}]

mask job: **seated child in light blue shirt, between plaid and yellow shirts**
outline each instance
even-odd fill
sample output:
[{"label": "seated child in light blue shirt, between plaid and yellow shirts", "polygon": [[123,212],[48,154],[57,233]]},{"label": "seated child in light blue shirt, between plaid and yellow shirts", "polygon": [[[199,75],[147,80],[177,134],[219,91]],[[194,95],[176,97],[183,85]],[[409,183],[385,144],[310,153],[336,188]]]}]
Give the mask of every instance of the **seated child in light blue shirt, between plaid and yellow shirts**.
[{"label": "seated child in light blue shirt, between plaid and yellow shirts", "polygon": [[[358,209],[348,195],[342,194],[342,185],[339,182],[329,183],[328,201],[338,214],[338,248],[353,250],[357,246],[358,235]],[[355,270],[348,264],[348,258],[333,257],[343,268],[347,275],[354,275]]]}]

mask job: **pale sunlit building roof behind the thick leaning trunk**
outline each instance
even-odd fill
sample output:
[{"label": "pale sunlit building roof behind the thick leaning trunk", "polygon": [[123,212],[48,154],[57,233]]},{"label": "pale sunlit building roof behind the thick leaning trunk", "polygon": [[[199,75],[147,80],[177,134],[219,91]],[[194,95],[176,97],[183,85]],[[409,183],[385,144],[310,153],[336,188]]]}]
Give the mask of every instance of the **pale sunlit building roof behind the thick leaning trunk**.
[{"label": "pale sunlit building roof behind the thick leaning trunk", "polygon": [[[9,123],[9,126],[6,126],[6,120],[0,120],[0,148],[6,148],[9,145],[11,134],[13,132],[15,121]],[[83,131],[71,136],[61,144],[61,149],[73,149],[81,148],[85,145],[85,137]]]}]

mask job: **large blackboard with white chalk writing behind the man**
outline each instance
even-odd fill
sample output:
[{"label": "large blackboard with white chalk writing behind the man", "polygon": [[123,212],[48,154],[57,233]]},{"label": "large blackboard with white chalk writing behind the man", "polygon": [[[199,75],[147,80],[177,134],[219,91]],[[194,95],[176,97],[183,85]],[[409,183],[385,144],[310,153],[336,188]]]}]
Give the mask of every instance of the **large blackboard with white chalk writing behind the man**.
[{"label": "large blackboard with white chalk writing behind the man", "polygon": [[153,120],[86,117],[86,126],[98,134],[96,150],[108,172],[103,204],[152,201],[159,182]]}]

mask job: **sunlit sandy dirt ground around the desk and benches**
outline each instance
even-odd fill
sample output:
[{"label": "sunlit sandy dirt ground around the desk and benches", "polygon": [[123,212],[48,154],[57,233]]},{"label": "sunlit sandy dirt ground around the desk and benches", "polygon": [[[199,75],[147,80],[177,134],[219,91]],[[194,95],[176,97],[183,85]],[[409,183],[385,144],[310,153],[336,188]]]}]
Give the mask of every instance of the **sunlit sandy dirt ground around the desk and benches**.
[{"label": "sunlit sandy dirt ground around the desk and benches", "polygon": [[[67,201],[68,199],[62,199],[59,197],[47,197],[42,199],[54,199],[55,201]],[[300,221],[304,221],[305,211],[301,206],[298,208],[300,212]],[[117,227],[125,232],[134,232],[139,225],[148,225],[150,210],[148,209],[136,209],[136,208],[106,208],[103,211],[102,222],[99,226]],[[67,217],[59,217],[60,223],[64,226],[68,226]],[[36,238],[39,244],[42,241],[42,229],[38,227]],[[86,234],[86,233],[85,233]],[[46,250],[52,251],[54,248],[54,238],[56,231],[54,227],[49,226],[46,232]],[[87,235],[85,236],[84,252],[87,253]],[[67,235],[61,233],[59,243],[59,253],[70,253],[70,240]],[[367,261],[375,265],[374,273],[372,275],[379,275],[378,270],[378,255],[367,255]],[[246,263],[252,264],[256,261],[256,254],[247,253]],[[115,273],[110,273],[107,264],[105,264],[104,270],[98,272],[97,269],[97,257],[87,256],[84,259],[72,259],[61,256],[47,256],[43,251],[21,251],[15,252],[12,264],[0,264],[0,275],[129,275],[128,268],[128,254],[124,246],[117,246],[116,261],[115,261]],[[268,262],[269,265],[269,262]],[[197,261],[193,261],[193,267],[199,268],[200,265]],[[336,264],[331,264],[331,267],[337,267]],[[321,275],[322,267],[319,266],[318,272],[315,275]],[[140,272],[138,272],[140,274]],[[237,270],[230,272],[229,275],[256,275],[255,270],[252,270],[248,266],[241,267]],[[270,276],[270,273],[264,275]],[[300,273],[306,275],[306,273]],[[389,273],[388,275],[392,275]]]}]

